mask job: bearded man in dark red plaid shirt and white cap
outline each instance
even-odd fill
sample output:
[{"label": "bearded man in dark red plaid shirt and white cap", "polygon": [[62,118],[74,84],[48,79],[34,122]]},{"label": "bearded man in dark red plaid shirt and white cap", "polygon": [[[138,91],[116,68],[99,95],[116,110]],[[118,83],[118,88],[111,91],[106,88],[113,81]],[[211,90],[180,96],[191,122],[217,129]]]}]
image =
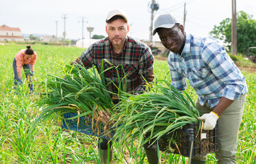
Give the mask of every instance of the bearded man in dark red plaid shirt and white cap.
[{"label": "bearded man in dark red plaid shirt and white cap", "polygon": [[[129,32],[127,16],[121,10],[109,12],[105,30],[108,37],[92,44],[75,61],[88,68],[94,65],[101,73],[101,61],[106,59],[103,68],[106,70],[104,76],[108,91],[118,92],[116,86],[118,86],[119,74],[120,79],[123,77],[127,79],[127,92],[142,93],[146,81],[151,83],[154,79],[154,57],[151,49],[143,42],[127,36]],[[112,66],[117,67],[118,73],[115,68],[107,70]],[[101,138],[98,141],[100,159],[103,163],[107,163],[107,158],[108,161],[112,161],[112,151],[108,152],[110,156],[107,156],[107,145],[107,139]]]}]

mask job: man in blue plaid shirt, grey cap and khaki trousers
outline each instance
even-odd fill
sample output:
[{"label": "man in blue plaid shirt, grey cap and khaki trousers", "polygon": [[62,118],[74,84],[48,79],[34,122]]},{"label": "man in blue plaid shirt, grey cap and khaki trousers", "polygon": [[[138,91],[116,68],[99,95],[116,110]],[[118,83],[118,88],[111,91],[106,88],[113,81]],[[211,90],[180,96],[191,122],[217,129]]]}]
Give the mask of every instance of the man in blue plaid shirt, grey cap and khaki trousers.
[{"label": "man in blue plaid shirt, grey cap and khaki trousers", "polygon": [[[248,88],[244,75],[214,38],[185,33],[172,14],[155,20],[153,35],[170,50],[168,66],[172,85],[185,90],[186,79],[198,95],[196,107],[204,120],[203,128],[212,130],[218,120],[218,163],[236,163],[238,131]],[[205,163],[206,155],[194,156],[192,163]]]}]

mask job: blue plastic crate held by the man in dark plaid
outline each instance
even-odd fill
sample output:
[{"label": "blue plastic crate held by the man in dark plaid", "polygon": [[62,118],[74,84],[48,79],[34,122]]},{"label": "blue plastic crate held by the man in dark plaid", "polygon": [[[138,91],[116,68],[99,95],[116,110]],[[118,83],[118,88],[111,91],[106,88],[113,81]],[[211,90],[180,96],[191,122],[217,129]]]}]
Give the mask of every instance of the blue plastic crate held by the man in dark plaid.
[{"label": "blue plastic crate held by the man in dark plaid", "polygon": [[110,135],[104,135],[104,124],[100,121],[97,122],[96,120],[94,120],[94,124],[92,127],[92,118],[86,118],[84,116],[79,117],[79,124],[77,124],[78,118],[66,120],[68,118],[73,118],[76,115],[76,113],[64,113],[64,119],[62,120],[62,128],[77,131],[80,133],[85,133],[86,135],[102,137],[105,139],[111,139],[115,133],[113,128],[110,128],[110,133],[108,133]]}]

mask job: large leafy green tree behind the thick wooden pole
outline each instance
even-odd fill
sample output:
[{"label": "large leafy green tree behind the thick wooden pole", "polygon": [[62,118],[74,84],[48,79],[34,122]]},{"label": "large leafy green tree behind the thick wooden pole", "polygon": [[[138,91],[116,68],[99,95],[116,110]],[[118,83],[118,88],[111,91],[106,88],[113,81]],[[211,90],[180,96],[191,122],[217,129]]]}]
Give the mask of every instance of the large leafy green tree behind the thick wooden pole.
[{"label": "large leafy green tree behind the thick wooden pole", "polygon": [[[231,18],[222,20],[219,26],[214,26],[210,31],[210,35],[214,38],[223,40],[228,48],[231,49]],[[238,53],[246,55],[248,47],[256,46],[256,20],[252,15],[240,11],[237,14],[237,40],[238,40]]]}]

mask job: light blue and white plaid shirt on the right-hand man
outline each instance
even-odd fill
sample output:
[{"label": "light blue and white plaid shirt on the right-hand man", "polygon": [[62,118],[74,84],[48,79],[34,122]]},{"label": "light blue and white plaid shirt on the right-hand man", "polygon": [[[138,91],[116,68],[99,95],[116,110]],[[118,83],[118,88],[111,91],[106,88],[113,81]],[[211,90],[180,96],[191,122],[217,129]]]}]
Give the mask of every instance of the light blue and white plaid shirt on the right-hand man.
[{"label": "light blue and white plaid shirt on the right-hand man", "polygon": [[207,101],[210,107],[215,107],[222,96],[235,100],[248,91],[244,75],[214,38],[186,33],[181,55],[170,52],[168,66],[172,85],[185,90],[188,78],[202,106]]}]

